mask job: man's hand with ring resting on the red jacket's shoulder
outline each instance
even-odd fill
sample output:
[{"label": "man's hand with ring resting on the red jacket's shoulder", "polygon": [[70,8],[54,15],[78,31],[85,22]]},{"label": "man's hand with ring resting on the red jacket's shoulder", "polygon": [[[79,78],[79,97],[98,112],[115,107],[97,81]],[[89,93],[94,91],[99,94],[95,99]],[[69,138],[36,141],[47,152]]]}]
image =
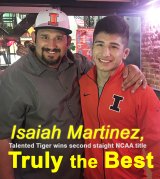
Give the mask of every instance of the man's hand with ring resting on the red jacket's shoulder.
[{"label": "man's hand with ring resting on the red jacket's shoulder", "polygon": [[134,93],[140,86],[142,86],[143,89],[145,89],[147,86],[147,81],[144,74],[136,65],[127,65],[123,71],[123,78],[123,91],[133,86],[131,88],[131,93]]}]

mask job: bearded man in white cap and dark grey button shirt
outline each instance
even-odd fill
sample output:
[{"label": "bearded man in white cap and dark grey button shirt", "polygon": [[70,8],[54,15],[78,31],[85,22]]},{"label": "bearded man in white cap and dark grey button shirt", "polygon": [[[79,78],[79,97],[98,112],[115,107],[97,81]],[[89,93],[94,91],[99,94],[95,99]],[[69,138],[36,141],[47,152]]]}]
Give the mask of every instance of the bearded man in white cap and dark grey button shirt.
[{"label": "bearded man in white cap and dark grey button shirt", "polygon": [[[1,179],[82,176],[80,168],[71,168],[70,157],[82,155],[83,149],[68,144],[83,140],[68,139],[67,134],[70,125],[76,130],[83,123],[78,81],[91,63],[68,50],[71,32],[63,12],[40,12],[33,34],[35,49],[0,76]],[[144,76],[130,70],[128,81],[136,76],[137,88]]]}]

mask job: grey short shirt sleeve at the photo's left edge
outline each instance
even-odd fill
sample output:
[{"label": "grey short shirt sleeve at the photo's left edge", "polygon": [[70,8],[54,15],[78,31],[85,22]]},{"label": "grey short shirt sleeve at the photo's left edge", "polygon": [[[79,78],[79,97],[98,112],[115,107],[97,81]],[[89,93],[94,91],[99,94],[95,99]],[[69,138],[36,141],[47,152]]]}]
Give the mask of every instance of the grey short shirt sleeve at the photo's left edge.
[{"label": "grey short shirt sleeve at the photo's left edge", "polygon": [[0,139],[10,138],[13,125],[22,125],[25,112],[23,94],[20,94],[22,89],[14,75],[6,71],[0,75]]}]

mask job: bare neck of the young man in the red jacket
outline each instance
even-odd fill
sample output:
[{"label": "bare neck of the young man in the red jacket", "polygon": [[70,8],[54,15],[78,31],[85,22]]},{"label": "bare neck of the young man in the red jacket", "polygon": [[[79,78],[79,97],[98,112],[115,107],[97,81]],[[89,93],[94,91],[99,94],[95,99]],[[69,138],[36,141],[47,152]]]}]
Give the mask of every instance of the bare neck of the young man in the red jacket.
[{"label": "bare neck of the young man in the red jacket", "polygon": [[97,70],[97,85],[98,87],[103,88],[105,83],[108,81],[110,77],[110,72]]}]

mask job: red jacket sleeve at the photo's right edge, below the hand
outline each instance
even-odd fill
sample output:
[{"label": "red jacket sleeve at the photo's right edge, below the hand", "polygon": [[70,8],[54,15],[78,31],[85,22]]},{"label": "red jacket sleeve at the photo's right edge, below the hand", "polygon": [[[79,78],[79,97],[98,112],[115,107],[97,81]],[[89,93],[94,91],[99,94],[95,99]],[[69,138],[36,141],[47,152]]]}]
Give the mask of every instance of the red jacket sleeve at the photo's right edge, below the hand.
[{"label": "red jacket sleeve at the photo's right edge, below the hand", "polygon": [[[143,95],[142,95],[143,94]],[[143,143],[147,145],[146,153],[152,152],[152,178],[160,178],[160,101],[154,91],[147,87],[137,96],[137,118]]]}]

